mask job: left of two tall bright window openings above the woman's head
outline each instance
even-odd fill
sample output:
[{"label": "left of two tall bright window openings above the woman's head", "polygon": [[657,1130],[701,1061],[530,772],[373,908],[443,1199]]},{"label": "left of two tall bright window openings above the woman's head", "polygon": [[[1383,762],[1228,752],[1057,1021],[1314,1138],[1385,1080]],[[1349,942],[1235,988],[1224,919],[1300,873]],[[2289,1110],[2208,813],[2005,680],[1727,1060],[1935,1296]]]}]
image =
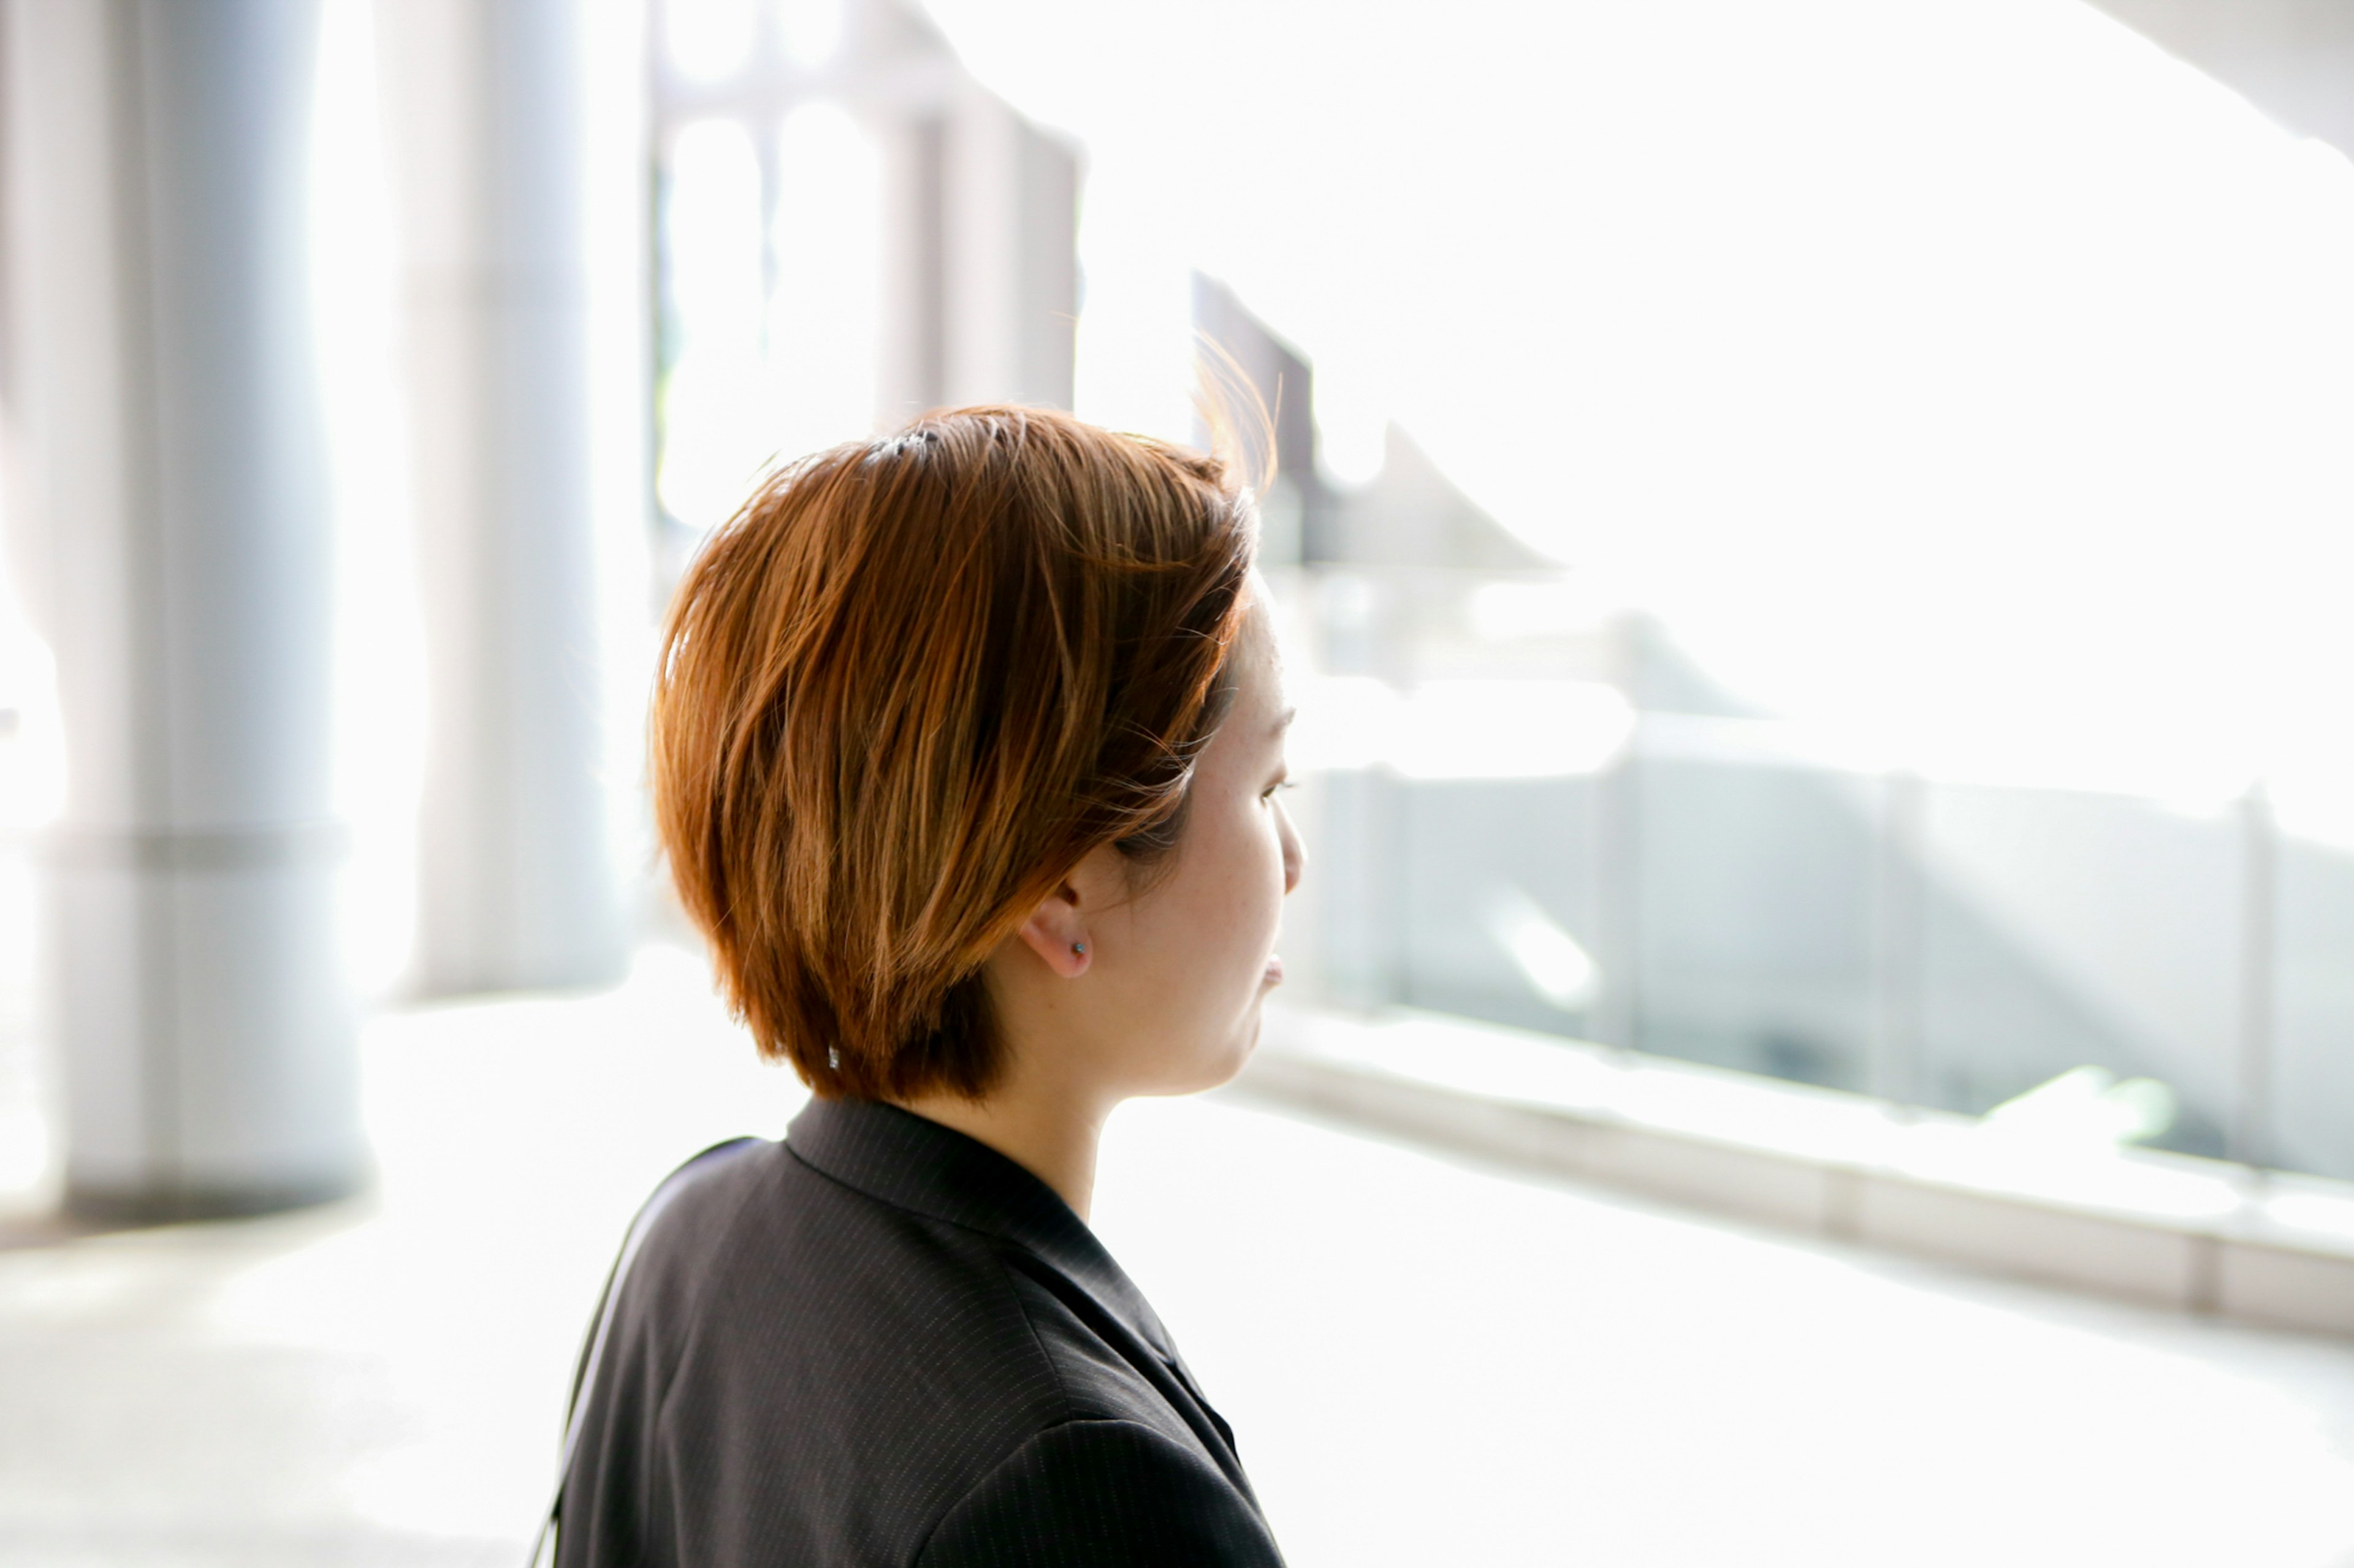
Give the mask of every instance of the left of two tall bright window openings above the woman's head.
[{"label": "left of two tall bright window openings above the woman's head", "polygon": [[760,165],[742,125],[706,120],[678,132],[661,238],[678,346],[657,487],[671,516],[713,527],[777,450],[760,370]]}]

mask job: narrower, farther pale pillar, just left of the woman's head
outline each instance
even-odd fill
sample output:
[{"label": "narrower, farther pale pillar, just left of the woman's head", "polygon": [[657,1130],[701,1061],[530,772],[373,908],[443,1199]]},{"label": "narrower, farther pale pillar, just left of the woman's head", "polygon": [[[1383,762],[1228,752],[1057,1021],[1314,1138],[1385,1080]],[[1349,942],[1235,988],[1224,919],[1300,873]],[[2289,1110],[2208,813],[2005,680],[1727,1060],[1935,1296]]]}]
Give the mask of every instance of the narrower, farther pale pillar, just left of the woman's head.
[{"label": "narrower, farther pale pillar, just left of the woman's head", "polygon": [[577,0],[381,0],[431,704],[421,994],[617,979]]}]

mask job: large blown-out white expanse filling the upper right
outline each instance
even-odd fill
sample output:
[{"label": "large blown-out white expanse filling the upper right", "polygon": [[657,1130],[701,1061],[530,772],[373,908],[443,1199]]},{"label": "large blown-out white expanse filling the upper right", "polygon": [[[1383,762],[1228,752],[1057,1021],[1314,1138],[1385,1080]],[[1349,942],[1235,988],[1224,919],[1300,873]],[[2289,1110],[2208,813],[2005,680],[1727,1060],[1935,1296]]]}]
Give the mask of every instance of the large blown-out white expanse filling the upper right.
[{"label": "large blown-out white expanse filling the upper right", "polygon": [[2354,170],[2093,7],[930,9],[1090,144],[1083,360],[1125,257],[1226,278],[1768,711],[2345,751]]}]

